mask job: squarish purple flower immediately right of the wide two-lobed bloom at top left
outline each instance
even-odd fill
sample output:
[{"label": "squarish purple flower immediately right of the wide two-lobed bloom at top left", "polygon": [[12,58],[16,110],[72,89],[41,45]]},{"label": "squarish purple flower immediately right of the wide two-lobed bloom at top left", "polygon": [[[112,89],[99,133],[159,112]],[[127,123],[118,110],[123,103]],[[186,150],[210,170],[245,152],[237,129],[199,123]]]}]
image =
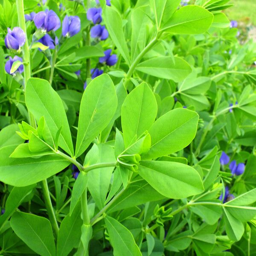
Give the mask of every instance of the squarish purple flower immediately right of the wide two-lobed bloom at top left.
[{"label": "squarish purple flower immediately right of the wide two-lobed bloom at top left", "polygon": [[64,17],[62,22],[62,35],[64,37],[72,37],[76,35],[81,29],[81,21],[78,16],[67,15]]}]

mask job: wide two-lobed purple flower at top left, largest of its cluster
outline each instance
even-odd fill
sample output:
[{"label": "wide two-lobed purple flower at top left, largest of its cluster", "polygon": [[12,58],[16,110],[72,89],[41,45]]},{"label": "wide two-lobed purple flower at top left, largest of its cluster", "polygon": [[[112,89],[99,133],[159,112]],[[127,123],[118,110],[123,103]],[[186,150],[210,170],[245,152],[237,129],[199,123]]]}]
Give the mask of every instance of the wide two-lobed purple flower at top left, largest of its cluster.
[{"label": "wide two-lobed purple flower at top left, largest of its cluster", "polygon": [[38,12],[34,17],[34,23],[38,29],[42,29],[44,32],[55,31],[61,26],[61,20],[52,10]]}]

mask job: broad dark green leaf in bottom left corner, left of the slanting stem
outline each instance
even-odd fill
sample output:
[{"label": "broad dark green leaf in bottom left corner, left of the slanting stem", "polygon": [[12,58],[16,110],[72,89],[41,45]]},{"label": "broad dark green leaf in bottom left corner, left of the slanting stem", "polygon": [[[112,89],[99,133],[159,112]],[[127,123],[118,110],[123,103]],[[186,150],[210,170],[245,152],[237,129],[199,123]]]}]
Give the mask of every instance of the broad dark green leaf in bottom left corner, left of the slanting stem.
[{"label": "broad dark green leaf in bottom left corner, left of the slanting stem", "polygon": [[42,256],[55,256],[52,227],[47,218],[15,212],[10,223],[15,234],[36,253]]}]

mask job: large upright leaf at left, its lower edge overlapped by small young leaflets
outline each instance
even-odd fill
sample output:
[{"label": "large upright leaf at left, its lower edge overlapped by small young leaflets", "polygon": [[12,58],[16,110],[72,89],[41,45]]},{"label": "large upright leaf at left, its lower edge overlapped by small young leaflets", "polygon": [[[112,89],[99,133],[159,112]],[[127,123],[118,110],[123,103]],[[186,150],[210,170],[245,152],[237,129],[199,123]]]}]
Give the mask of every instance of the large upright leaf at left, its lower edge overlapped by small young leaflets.
[{"label": "large upright leaf at left, its lower edge overlapped by small young leaflets", "polygon": [[59,146],[73,156],[73,143],[63,103],[48,81],[38,78],[27,81],[26,106],[37,121],[44,116],[53,138],[62,126]]}]

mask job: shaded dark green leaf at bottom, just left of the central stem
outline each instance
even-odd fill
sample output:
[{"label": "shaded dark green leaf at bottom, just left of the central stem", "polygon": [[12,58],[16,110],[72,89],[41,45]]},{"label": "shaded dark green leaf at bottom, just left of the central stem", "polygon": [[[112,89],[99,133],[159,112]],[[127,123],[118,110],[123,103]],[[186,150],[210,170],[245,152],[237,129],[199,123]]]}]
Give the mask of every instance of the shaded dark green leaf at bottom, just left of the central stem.
[{"label": "shaded dark green leaf at bottom, just left of the central stem", "polygon": [[58,232],[57,256],[66,256],[74,247],[78,247],[82,224],[81,206],[77,205],[73,213],[67,215],[63,221],[61,221]]}]

